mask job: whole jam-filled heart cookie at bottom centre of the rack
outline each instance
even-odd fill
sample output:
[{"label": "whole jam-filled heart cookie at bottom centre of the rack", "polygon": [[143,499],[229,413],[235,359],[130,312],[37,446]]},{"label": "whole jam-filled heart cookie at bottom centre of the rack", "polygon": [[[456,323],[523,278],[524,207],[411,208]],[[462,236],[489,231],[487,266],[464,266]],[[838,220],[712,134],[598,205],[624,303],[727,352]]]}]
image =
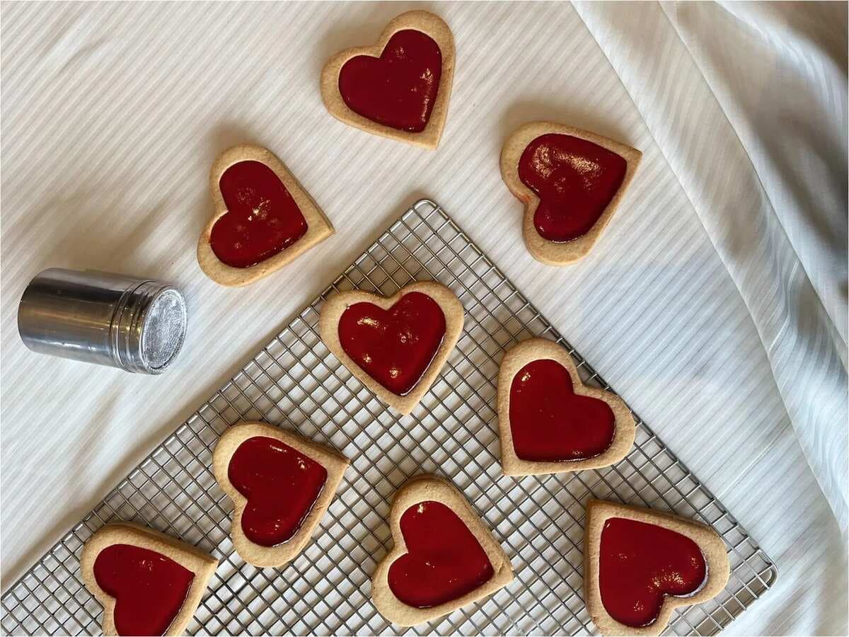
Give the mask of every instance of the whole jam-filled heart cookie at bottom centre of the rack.
[{"label": "whole jam-filled heart cookie at bottom centre of the rack", "polygon": [[392,623],[428,622],[513,579],[507,555],[451,482],[419,476],[404,483],[390,527],[395,546],[374,572],[372,599]]}]

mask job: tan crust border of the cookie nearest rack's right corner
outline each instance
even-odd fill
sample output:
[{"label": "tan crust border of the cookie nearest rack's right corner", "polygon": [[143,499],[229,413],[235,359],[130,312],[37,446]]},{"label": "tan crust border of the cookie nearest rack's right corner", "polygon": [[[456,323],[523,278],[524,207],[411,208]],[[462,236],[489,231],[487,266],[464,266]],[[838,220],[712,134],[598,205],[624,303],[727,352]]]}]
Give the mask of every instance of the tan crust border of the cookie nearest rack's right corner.
[{"label": "tan crust border of the cookie nearest rack's right corner", "polygon": [[[648,626],[634,628],[610,617],[602,604],[599,589],[599,544],[604,522],[611,517],[647,522],[692,539],[699,545],[707,564],[707,580],[702,588],[694,595],[687,597],[664,595],[660,614]],[[601,634],[641,636],[661,634],[669,623],[672,611],[678,606],[700,604],[716,597],[728,583],[729,573],[725,543],[716,531],[705,524],[661,511],[620,505],[606,500],[591,499],[587,503],[587,526],[584,530],[584,601],[590,616],[593,617],[593,623],[599,628]]]}]

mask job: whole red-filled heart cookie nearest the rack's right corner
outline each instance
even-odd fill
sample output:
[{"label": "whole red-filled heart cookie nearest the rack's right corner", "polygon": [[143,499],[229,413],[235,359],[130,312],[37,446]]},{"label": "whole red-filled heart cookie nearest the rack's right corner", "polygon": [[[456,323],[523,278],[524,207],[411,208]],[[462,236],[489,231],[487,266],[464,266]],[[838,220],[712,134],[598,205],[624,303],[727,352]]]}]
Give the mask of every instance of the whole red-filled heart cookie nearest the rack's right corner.
[{"label": "whole red-filled heart cookie nearest the rack's right corner", "polygon": [[585,600],[602,634],[661,634],[678,606],[715,597],[728,582],[722,538],[699,522],[590,500]]}]

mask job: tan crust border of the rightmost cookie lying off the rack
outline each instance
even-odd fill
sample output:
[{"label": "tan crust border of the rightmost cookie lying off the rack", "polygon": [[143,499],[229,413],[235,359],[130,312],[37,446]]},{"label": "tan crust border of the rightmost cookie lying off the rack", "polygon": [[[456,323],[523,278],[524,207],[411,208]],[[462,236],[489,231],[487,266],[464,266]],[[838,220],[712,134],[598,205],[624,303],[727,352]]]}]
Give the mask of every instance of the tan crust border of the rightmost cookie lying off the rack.
[{"label": "tan crust border of the rightmost cookie lying off the rack", "polygon": [[[613,199],[601,213],[593,228],[590,228],[587,234],[582,234],[577,239],[562,243],[545,239],[537,232],[537,227],[534,225],[534,215],[537,212],[537,206],[539,206],[539,197],[519,178],[519,160],[522,153],[534,139],[547,133],[571,135],[572,137],[586,139],[588,142],[598,144],[616,153],[616,155],[620,155],[627,162],[625,178],[622,179],[619,190],[616,191]],[[633,180],[634,173],[637,172],[642,156],[643,154],[638,149],[626,144],[621,144],[594,132],[583,131],[580,128],[558,124],[554,121],[531,121],[519,127],[510,135],[501,151],[501,177],[514,197],[525,205],[522,236],[531,256],[539,262],[554,266],[563,266],[587,256],[604,232],[604,228],[607,228],[610,219],[613,218],[616,208],[621,203],[622,197],[625,196],[628,186]]]}]

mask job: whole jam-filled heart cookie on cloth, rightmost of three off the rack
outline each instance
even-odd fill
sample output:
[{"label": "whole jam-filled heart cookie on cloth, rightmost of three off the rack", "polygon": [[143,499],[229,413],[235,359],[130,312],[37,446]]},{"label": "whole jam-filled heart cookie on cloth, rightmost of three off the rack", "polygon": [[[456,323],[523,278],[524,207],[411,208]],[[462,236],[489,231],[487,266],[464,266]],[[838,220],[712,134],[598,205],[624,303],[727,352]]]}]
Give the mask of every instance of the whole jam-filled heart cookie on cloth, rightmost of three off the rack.
[{"label": "whole jam-filled heart cookie on cloth, rightmost of three off the rack", "polygon": [[525,204],[531,256],[565,265],[586,256],[619,206],[642,153],[594,132],[531,121],[507,139],[501,176]]}]

